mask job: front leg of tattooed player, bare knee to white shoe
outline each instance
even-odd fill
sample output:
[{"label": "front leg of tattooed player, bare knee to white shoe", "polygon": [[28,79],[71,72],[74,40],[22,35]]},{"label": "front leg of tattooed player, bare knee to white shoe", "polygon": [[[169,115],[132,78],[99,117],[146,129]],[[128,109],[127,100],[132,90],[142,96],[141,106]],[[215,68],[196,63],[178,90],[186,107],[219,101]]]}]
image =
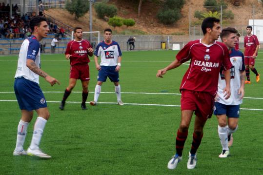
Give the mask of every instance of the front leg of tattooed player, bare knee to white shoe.
[{"label": "front leg of tattooed player, bare knee to white shoe", "polygon": [[43,135],[43,131],[48,118],[50,117],[47,107],[36,109],[38,118],[34,125],[34,132],[31,140],[31,144],[27,149],[27,154],[30,156],[38,156],[40,158],[51,158],[51,156],[43,153],[40,148],[40,140]]}]

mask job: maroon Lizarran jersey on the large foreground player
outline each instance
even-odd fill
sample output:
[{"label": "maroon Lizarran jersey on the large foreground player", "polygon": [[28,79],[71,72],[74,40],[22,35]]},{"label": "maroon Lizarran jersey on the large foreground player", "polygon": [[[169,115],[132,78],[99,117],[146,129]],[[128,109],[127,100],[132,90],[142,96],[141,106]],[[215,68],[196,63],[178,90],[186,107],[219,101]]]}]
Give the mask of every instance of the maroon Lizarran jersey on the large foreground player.
[{"label": "maroon Lizarran jersey on the large foreground player", "polygon": [[215,96],[221,66],[224,70],[232,67],[227,47],[217,41],[211,45],[202,44],[201,39],[190,41],[176,58],[181,63],[191,59],[189,68],[182,78],[180,91],[186,89],[207,92]]}]

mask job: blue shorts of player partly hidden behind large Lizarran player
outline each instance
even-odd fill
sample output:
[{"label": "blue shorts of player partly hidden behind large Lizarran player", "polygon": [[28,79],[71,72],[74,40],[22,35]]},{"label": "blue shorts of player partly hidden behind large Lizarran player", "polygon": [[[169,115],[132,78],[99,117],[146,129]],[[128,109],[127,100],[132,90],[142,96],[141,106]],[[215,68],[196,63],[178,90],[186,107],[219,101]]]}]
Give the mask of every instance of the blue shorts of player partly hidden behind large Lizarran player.
[{"label": "blue shorts of player partly hidden behind large Lizarran player", "polygon": [[215,102],[214,115],[223,115],[227,117],[239,118],[240,105],[225,105]]}]

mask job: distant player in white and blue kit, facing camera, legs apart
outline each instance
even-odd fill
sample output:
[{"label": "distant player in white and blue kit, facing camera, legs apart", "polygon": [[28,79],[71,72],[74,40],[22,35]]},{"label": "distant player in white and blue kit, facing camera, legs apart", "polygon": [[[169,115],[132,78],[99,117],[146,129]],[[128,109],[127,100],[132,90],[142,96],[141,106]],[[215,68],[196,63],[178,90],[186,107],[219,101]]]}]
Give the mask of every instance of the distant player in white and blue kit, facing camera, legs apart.
[{"label": "distant player in white and blue kit, facing camera, legs apart", "polygon": [[[119,71],[121,70],[121,49],[119,44],[111,39],[111,29],[104,30],[104,40],[98,44],[95,50],[95,64],[99,71],[98,81],[95,87],[94,100],[90,105],[96,105],[101,93],[101,85],[107,77],[114,83],[117,102],[123,105],[121,101],[121,86],[119,84]],[[101,57],[101,64],[98,63],[98,57]]]}]

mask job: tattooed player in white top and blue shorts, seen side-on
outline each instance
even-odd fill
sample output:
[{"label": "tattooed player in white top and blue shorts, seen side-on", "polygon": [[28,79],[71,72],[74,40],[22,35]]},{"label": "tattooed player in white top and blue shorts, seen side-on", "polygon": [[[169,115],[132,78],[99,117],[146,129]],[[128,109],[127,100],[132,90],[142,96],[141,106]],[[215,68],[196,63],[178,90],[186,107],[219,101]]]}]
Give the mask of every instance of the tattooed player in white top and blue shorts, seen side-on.
[{"label": "tattooed player in white top and blue shorts, seen side-on", "polygon": [[[21,110],[21,119],[18,125],[17,144],[13,152],[14,156],[30,155],[40,158],[51,158],[40,150],[40,140],[45,128],[45,124],[50,117],[47,109],[46,99],[39,86],[39,76],[53,86],[59,83],[56,78],[50,77],[40,69],[40,40],[47,37],[49,27],[44,17],[34,17],[30,20],[29,26],[32,30],[31,37],[25,39],[21,45],[18,68],[15,75],[15,94]],[[33,110],[38,114],[34,125],[32,141],[24,151],[26,130],[33,118]]]}]

